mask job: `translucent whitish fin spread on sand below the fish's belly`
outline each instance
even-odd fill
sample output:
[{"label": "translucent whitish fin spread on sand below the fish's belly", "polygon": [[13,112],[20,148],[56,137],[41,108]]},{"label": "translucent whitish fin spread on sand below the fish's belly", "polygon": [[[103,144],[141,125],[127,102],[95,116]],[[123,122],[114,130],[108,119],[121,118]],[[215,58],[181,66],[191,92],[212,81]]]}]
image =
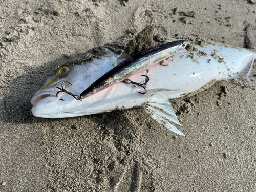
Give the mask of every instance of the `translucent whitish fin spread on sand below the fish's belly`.
[{"label": "translucent whitish fin spread on sand below the fish's belly", "polygon": [[173,122],[181,125],[169,100],[151,98],[150,101],[145,102],[144,110],[153,119],[163,124],[170,131],[185,136],[180,130],[178,130],[173,124],[170,123]]}]

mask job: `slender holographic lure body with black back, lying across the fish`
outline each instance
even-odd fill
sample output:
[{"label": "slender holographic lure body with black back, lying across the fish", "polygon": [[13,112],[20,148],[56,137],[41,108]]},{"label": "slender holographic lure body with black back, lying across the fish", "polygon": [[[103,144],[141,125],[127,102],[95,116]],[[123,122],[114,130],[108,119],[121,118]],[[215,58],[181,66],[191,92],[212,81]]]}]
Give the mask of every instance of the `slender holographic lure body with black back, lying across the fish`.
[{"label": "slender holographic lure body with black back, lying across the fish", "polygon": [[188,40],[168,42],[150,51],[137,54],[124,60],[118,66],[104,74],[80,94],[80,99],[87,98],[99,91],[109,88],[113,84],[148,68],[156,63],[175,55],[185,49]]}]

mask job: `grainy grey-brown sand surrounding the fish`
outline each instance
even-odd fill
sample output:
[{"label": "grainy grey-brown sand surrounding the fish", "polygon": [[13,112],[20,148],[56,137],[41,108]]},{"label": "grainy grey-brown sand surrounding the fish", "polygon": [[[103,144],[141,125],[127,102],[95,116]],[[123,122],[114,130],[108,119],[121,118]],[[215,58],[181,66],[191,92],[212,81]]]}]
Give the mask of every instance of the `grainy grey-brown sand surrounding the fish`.
[{"label": "grainy grey-brown sand surrounding the fish", "polygon": [[[193,38],[244,48],[247,24],[255,31],[253,1],[157,2]],[[256,190],[253,89],[219,82],[172,100],[186,137],[140,108],[31,114],[33,93],[59,65],[150,24],[177,33],[149,0],[0,0],[0,191]]]}]

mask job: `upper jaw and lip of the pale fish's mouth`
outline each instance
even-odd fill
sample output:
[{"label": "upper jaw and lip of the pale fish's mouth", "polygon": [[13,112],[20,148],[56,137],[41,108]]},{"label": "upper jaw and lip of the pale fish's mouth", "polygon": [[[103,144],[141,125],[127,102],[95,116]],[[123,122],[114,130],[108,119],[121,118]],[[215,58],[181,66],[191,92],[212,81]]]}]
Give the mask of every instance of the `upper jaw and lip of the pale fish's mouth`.
[{"label": "upper jaw and lip of the pale fish's mouth", "polygon": [[58,97],[56,96],[57,92],[59,91],[58,88],[50,88],[47,90],[40,89],[37,92],[35,92],[34,96],[31,99],[31,104],[36,105],[39,101],[45,100],[46,102],[48,101],[53,101],[53,100],[58,100],[62,96],[62,92],[58,94]]}]

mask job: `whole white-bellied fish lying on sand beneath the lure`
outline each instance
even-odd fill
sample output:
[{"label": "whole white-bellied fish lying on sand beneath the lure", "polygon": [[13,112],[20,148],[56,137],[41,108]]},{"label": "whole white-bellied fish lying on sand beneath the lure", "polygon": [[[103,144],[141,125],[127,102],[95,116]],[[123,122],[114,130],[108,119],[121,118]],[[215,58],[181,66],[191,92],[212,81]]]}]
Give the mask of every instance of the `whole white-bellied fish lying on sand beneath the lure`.
[{"label": "whole white-bellied fish lying on sand beneath the lure", "polygon": [[249,80],[249,73],[256,53],[204,41],[201,45],[191,42],[183,52],[129,77],[129,80],[143,84],[141,75],[148,76],[146,90],[118,82],[82,101],[60,92],[57,87],[79,95],[123,61],[123,50],[117,54],[111,49],[101,49],[104,50],[102,57],[89,61],[78,59],[77,63],[57,69],[32,97],[32,114],[41,118],[66,118],[140,106],[167,129],[184,136],[173,125],[181,124],[169,99],[196,93],[206,84],[220,80],[242,82],[255,88]]}]

